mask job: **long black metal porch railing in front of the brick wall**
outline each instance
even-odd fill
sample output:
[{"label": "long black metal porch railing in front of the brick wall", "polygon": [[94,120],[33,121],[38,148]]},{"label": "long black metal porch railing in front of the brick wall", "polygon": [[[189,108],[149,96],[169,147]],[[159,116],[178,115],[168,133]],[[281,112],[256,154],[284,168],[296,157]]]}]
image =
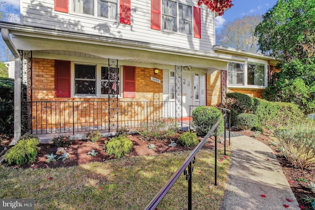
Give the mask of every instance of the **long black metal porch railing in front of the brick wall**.
[{"label": "long black metal porch railing in front of the brick wall", "polygon": [[[33,101],[32,133],[110,130],[108,101]],[[141,128],[175,119],[174,101],[119,101],[117,127]]]}]

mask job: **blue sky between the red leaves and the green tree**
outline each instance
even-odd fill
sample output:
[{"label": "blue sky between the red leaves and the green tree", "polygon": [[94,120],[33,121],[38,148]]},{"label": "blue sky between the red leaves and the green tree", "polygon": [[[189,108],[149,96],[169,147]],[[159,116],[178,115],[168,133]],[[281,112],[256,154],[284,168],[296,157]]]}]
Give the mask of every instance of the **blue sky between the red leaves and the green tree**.
[{"label": "blue sky between the red leaves and the green tree", "polygon": [[219,32],[225,22],[242,18],[246,15],[263,15],[272,8],[277,0],[232,0],[234,6],[224,12],[222,16],[216,17],[216,31]]}]

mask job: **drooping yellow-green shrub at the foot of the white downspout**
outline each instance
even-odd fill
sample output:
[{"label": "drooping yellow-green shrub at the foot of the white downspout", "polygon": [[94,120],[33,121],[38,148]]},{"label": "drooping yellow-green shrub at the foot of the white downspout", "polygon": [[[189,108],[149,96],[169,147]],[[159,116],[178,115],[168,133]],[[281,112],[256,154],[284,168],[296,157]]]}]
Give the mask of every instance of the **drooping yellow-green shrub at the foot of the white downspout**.
[{"label": "drooping yellow-green shrub at the foot of the white downspout", "polygon": [[8,150],[4,155],[4,160],[9,165],[32,163],[36,160],[37,150],[39,150],[39,147],[37,147],[38,144],[39,142],[36,138],[21,139],[15,146]]}]

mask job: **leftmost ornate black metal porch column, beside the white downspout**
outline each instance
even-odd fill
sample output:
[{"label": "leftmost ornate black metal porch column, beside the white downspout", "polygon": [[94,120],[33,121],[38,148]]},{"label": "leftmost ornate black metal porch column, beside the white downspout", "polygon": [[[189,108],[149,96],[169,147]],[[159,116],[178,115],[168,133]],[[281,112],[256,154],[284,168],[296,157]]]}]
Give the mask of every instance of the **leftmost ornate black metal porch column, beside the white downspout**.
[{"label": "leftmost ornate black metal porch column, beside the white downspout", "polygon": [[21,57],[21,135],[32,132],[32,51],[19,50]]}]

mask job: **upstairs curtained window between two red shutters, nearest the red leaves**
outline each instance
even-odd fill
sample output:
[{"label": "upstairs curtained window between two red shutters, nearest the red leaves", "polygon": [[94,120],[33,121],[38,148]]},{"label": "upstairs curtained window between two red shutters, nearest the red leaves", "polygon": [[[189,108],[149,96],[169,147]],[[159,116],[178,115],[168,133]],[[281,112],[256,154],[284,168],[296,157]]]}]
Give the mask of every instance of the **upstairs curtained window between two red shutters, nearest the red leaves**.
[{"label": "upstairs curtained window between two red shutters, nearest the red leaves", "polygon": [[162,29],[192,34],[192,8],[171,0],[162,0]]}]

